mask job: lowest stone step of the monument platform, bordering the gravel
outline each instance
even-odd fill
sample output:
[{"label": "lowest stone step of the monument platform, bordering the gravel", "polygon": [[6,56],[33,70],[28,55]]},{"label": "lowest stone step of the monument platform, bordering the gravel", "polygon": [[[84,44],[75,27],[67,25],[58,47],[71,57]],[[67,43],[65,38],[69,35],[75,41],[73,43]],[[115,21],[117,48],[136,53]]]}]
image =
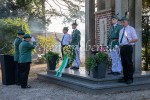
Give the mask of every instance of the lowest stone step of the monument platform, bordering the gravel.
[{"label": "lowest stone step of the monument platform, bordering the gravel", "polygon": [[[145,76],[142,76],[142,77],[145,77]],[[81,81],[80,79],[77,80],[77,79],[69,78],[69,77],[59,78],[59,77],[54,76],[54,74],[52,73],[47,74],[47,72],[38,74],[38,79],[47,81],[53,84],[65,86],[74,90],[93,93],[93,94],[114,93],[114,92],[131,91],[131,90],[138,90],[138,89],[147,89],[149,88],[149,85],[150,85],[150,78],[146,80],[144,80],[145,78],[143,80],[135,80],[134,83],[131,85],[127,85],[124,83],[117,83],[117,82],[109,83],[107,79],[106,79],[106,82],[104,82],[105,79],[102,80],[104,83],[101,83],[101,82],[92,83],[92,82],[88,82],[85,79],[84,79],[85,81],[83,80]]]}]

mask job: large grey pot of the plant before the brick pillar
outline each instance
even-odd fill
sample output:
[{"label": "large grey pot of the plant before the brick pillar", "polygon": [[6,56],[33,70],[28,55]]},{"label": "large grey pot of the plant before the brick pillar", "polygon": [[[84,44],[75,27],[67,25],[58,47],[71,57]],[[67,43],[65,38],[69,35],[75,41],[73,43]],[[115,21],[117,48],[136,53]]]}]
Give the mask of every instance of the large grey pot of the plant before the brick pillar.
[{"label": "large grey pot of the plant before the brick pillar", "polygon": [[106,69],[107,69],[106,62],[102,62],[101,64],[96,66],[92,71],[90,71],[90,76],[97,79],[105,78]]}]

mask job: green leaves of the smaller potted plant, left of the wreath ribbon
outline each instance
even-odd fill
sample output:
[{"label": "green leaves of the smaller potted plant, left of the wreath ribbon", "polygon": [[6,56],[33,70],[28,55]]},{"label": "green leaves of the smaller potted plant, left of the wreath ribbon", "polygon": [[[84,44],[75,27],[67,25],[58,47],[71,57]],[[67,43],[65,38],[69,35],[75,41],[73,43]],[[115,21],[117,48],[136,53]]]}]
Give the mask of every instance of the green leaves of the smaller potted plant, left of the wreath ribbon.
[{"label": "green leaves of the smaller potted plant, left of the wreath ribbon", "polygon": [[57,63],[59,62],[59,53],[48,51],[46,54],[43,55],[43,58],[46,61],[51,61],[53,63],[53,58],[57,60]]}]

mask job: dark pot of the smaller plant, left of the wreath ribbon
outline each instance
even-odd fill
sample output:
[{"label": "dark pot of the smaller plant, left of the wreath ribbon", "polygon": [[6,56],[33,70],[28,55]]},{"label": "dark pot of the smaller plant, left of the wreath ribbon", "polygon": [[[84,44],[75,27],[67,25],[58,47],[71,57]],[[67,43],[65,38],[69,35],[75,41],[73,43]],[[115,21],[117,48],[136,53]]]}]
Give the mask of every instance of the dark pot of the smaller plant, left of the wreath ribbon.
[{"label": "dark pot of the smaller plant, left of the wreath ribbon", "polygon": [[56,63],[58,58],[53,57],[51,60],[47,61],[47,69],[48,70],[55,70],[56,69]]}]

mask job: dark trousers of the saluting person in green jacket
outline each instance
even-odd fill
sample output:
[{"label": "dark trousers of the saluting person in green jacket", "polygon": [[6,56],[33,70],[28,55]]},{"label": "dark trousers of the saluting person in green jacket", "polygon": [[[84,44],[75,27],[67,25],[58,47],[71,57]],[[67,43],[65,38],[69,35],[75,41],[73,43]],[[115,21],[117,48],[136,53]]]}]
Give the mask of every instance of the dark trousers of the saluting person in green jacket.
[{"label": "dark trousers of the saluting person in green jacket", "polygon": [[30,62],[20,63],[20,71],[21,71],[21,87],[26,87],[28,84],[28,76],[30,71]]}]

